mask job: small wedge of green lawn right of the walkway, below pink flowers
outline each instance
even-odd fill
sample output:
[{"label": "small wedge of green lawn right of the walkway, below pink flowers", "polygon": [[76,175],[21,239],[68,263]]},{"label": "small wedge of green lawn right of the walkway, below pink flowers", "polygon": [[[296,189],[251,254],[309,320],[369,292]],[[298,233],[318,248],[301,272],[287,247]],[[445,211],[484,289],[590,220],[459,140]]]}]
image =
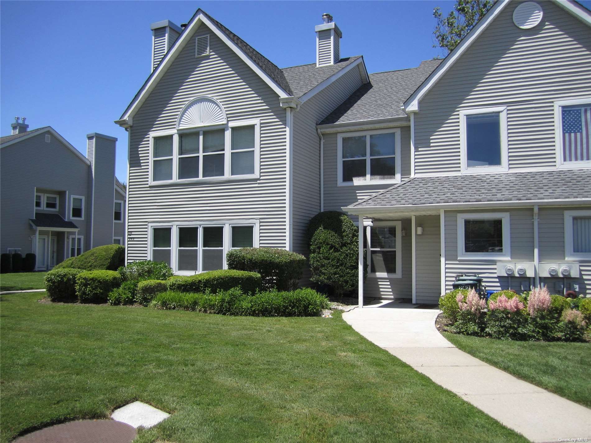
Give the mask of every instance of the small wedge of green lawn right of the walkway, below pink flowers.
[{"label": "small wedge of green lawn right of the walkway, below pink flowers", "polygon": [[591,343],[511,341],[443,333],[472,356],[591,408]]}]

